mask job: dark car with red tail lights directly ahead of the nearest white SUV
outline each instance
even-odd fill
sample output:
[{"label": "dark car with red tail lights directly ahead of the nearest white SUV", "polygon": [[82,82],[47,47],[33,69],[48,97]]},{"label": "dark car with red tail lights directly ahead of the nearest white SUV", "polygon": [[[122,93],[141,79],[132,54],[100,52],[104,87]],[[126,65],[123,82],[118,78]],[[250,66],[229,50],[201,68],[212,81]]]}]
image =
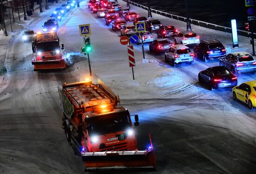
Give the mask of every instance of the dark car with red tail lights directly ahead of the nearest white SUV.
[{"label": "dark car with red tail lights directly ahead of the nearest white SUV", "polygon": [[149,44],[149,51],[154,53],[168,52],[172,43],[168,39],[154,40]]}]

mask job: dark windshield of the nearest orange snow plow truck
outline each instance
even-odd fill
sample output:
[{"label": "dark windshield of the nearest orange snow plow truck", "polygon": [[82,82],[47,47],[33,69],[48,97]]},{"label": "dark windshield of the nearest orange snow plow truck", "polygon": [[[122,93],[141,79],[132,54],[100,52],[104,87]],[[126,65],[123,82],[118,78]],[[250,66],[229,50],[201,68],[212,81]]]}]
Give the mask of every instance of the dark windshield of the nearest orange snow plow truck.
[{"label": "dark windshield of the nearest orange snow plow truck", "polygon": [[127,112],[91,117],[87,122],[89,136],[115,133],[131,127]]}]

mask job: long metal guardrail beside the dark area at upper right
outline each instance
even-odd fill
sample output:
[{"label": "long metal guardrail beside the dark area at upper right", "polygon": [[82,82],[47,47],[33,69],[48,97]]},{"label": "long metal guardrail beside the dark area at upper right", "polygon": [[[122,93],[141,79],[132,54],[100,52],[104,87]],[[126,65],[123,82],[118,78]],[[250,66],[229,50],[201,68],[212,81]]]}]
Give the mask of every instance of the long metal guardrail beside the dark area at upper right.
[{"label": "long metal guardrail beside the dark area at upper right", "polygon": [[[123,1],[126,2],[126,0],[123,0]],[[144,10],[148,10],[148,7],[143,6],[141,4],[137,4],[133,1],[129,0],[129,3],[136,6],[136,7],[140,7]],[[186,20],[187,18],[183,17],[183,16],[178,16],[178,15],[175,15],[175,14],[162,12],[162,11],[156,10],[154,8],[151,8],[151,11],[152,11],[152,13],[160,14],[162,16],[165,16],[165,17],[168,17],[168,18],[171,18],[171,19],[174,19],[174,20],[181,20],[183,22],[187,21]],[[232,29],[230,27],[219,26],[219,25],[212,24],[212,23],[209,23],[209,22],[204,22],[204,21],[194,20],[194,19],[189,19],[189,21],[190,21],[191,24],[199,26],[199,27],[205,27],[205,28],[209,28],[209,29],[213,29],[213,30],[217,30],[217,31],[222,31],[222,32],[225,32],[225,33],[232,33]],[[251,37],[250,32],[243,31],[243,30],[237,30],[237,34],[240,35],[240,36]],[[254,37],[256,37],[256,33],[253,33],[253,35],[254,35]]]}]

